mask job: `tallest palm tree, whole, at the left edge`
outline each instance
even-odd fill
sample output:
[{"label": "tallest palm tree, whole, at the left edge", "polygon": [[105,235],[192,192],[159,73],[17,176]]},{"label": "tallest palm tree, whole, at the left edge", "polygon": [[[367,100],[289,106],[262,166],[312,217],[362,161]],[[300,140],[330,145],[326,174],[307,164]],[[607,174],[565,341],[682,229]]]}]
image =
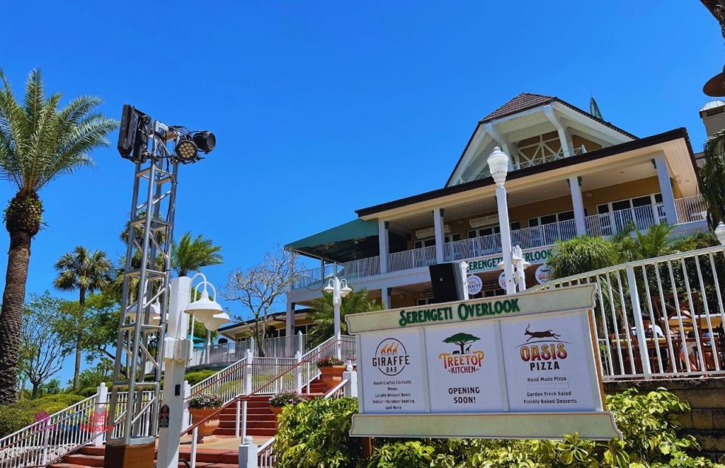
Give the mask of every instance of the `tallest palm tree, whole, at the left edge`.
[{"label": "tallest palm tree, whole, at the left edge", "polygon": [[0,312],[0,404],[9,404],[17,398],[30,242],[43,220],[38,192],[60,175],[91,166],[91,151],[108,144],[106,135],[117,122],[95,110],[101,101],[93,96],[81,96],[59,109],[60,93],[46,97],[38,70],[30,72],[22,103],[2,70],[0,80],[0,177],[17,188],[4,217],[10,245]]}]

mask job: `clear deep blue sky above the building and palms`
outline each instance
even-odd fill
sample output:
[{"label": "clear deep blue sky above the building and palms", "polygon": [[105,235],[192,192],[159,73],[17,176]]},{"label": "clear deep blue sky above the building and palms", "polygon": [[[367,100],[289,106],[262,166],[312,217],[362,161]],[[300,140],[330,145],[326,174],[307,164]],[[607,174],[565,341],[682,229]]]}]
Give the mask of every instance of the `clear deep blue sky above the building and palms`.
[{"label": "clear deep blue sky above the building and palms", "polygon": [[[216,134],[181,168],[176,225],[223,246],[205,271],[216,285],[355,209],[442,187],[477,120],[523,91],[583,109],[593,91],[605,120],[639,136],[684,126],[699,151],[702,85],[725,61],[696,0],[13,1],[2,15],[16,93],[39,67],[48,91],[100,96],[112,117],[129,103]],[[123,254],[133,164],[111,141],[41,192],[29,293],[52,291],[76,245]]]}]

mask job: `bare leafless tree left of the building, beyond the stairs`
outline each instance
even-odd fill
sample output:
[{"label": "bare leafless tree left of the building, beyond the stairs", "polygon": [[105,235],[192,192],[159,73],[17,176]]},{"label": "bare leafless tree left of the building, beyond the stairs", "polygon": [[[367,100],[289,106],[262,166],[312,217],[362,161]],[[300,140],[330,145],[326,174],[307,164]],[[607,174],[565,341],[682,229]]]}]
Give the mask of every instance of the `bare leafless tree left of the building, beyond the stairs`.
[{"label": "bare leafless tree left of the building, beyond the stairs", "polygon": [[[299,276],[296,259],[297,254],[294,252],[278,248],[275,252],[265,254],[260,264],[247,270],[236,269],[229,273],[222,296],[229,301],[241,302],[254,317],[254,322],[249,327],[257,343],[259,356],[264,356],[265,352],[267,319]],[[244,322],[241,317],[235,318]]]}]

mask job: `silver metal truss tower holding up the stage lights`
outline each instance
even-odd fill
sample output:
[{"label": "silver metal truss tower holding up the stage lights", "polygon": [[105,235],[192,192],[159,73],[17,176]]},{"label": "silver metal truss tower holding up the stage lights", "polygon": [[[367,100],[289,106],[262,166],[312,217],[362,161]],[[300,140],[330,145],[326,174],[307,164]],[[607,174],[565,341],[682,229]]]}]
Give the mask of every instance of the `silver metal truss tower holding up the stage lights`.
[{"label": "silver metal truss tower holding up the stage lights", "polygon": [[178,135],[158,121],[154,121],[153,130],[149,153],[144,161],[136,162],[133,177],[116,362],[107,415],[109,446],[153,443],[157,434],[178,177],[178,161],[172,156]]}]

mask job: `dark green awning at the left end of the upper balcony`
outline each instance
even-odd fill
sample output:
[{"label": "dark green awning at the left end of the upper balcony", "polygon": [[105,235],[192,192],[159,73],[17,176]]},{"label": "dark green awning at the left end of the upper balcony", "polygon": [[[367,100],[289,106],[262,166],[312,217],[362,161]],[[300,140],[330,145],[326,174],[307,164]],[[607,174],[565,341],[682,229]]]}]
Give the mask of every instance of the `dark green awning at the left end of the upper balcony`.
[{"label": "dark green awning at the left end of the upper balcony", "polygon": [[357,219],[291,242],[284,248],[335,262],[347,262],[377,255],[377,235],[376,220]]}]

